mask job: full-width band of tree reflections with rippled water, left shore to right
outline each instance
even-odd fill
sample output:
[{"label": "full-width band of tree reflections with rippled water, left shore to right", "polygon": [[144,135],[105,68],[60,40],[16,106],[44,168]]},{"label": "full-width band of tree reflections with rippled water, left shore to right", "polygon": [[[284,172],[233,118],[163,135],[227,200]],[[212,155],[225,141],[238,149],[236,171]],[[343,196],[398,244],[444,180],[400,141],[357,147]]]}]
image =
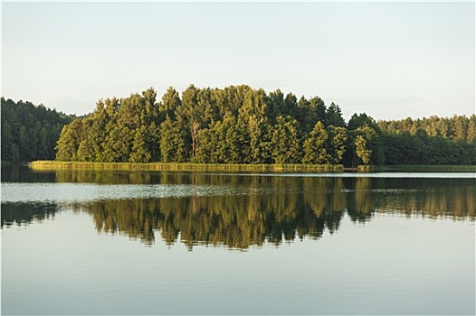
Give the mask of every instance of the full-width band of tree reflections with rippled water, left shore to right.
[{"label": "full-width band of tree reflections with rippled water, left shore to right", "polygon": [[[173,172],[56,172],[54,177],[57,182],[69,183],[73,191],[90,187],[71,183],[109,184],[112,189],[99,186],[102,189],[97,193],[90,191],[80,200],[68,200],[63,194],[56,203],[9,202],[3,196],[2,228],[50,218],[66,208],[89,213],[100,233],[127,235],[146,245],[154,244],[160,235],[168,245],[180,241],[189,249],[195,245],[245,249],[264,242],[281,245],[296,238],[319,239],[325,231],[337,232],[346,213],[355,222],[372,220],[376,212],[425,218],[475,217],[473,179]],[[17,185],[18,190],[26,184],[9,185]],[[28,185],[32,191],[33,184]],[[157,188],[169,188],[170,194],[160,195]],[[41,195],[44,185],[35,190]],[[138,191],[153,194],[136,194]]]}]

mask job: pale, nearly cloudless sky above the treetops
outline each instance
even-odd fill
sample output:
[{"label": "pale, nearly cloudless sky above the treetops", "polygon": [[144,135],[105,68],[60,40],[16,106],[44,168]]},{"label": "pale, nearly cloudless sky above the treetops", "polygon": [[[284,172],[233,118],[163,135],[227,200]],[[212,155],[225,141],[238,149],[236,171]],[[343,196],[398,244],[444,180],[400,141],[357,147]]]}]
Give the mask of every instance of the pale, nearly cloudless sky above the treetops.
[{"label": "pale, nearly cloudless sky above the treetops", "polygon": [[475,113],[474,2],[2,3],[2,96],[83,115],[247,84],[346,120]]}]

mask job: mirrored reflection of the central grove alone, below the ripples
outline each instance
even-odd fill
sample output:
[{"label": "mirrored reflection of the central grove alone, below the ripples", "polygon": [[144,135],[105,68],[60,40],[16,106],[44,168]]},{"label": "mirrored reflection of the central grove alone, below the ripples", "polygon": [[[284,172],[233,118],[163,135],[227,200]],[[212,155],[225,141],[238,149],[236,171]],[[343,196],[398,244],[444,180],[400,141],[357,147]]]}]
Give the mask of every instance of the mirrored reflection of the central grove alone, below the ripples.
[{"label": "mirrored reflection of the central grove alone, below the ripples", "polygon": [[[325,228],[338,227],[327,191],[282,194],[191,196],[148,200],[104,200],[82,207],[90,212],[98,231],[125,232],[146,244],[154,231],[172,244],[178,238],[192,248],[197,244],[233,248],[261,246],[265,241],[280,245],[295,237],[319,238]],[[323,199],[323,200],[322,200]],[[316,216],[318,206],[324,211]]]}]

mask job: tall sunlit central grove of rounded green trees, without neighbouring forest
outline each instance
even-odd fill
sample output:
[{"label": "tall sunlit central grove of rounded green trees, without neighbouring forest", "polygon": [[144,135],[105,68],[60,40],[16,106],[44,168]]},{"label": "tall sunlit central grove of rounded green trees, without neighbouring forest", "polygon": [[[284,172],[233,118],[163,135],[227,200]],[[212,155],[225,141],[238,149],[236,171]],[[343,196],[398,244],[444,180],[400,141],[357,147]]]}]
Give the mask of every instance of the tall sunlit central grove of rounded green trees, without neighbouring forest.
[{"label": "tall sunlit central grove of rounded green trees, without neighbouring forest", "polygon": [[339,163],[346,149],[340,108],[320,98],[248,86],[149,88],[100,100],[62,130],[57,159],[91,162]]}]

